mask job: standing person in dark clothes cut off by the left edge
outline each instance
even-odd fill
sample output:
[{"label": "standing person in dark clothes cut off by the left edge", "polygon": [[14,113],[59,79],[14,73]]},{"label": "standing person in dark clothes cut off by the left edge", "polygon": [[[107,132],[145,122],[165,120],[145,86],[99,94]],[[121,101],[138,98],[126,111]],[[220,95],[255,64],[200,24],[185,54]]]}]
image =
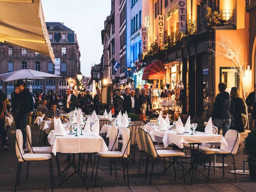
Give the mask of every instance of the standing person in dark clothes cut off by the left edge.
[{"label": "standing person in dark clothes cut off by the left edge", "polygon": [[3,142],[3,150],[8,151],[9,148],[7,146],[6,141],[6,130],[5,130],[5,116],[6,116],[6,97],[3,91],[0,90],[0,134]]}]

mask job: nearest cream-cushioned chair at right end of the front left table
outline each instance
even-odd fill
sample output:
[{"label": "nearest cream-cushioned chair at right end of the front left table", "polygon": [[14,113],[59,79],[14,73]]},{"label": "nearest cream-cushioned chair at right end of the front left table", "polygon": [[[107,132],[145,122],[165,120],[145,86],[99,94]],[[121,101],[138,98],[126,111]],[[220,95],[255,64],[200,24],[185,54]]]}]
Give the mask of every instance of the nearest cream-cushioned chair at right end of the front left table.
[{"label": "nearest cream-cushioned chair at right end of the front left table", "polygon": [[[97,157],[97,166],[96,166],[96,175],[95,175],[95,183],[94,183],[94,188],[96,187],[96,180],[97,180],[97,174],[98,174],[98,168],[99,168],[99,160],[102,158],[112,158],[114,159],[115,163],[115,172],[116,172],[116,159],[122,158],[122,164],[123,164],[123,176],[124,176],[124,182],[125,182],[125,162],[126,161],[126,168],[127,168],[127,180],[128,180],[128,186],[130,185],[129,183],[129,172],[128,172],[128,162],[127,158],[130,154],[130,143],[131,143],[131,131],[128,128],[125,128],[123,132],[123,145],[122,145],[122,150],[121,151],[106,151],[106,152],[97,152],[95,157],[94,157],[94,163],[93,163],[93,170],[94,170],[94,165],[95,165],[95,160]],[[117,179],[117,174],[116,174],[116,179]],[[93,180],[93,171],[92,171],[92,176],[91,176],[91,182]]]}]

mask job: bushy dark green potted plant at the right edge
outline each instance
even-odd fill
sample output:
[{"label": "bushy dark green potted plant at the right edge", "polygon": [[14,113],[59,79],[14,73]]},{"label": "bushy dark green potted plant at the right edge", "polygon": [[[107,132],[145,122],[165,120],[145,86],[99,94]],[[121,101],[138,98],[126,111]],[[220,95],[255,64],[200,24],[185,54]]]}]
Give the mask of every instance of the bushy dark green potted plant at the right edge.
[{"label": "bushy dark green potted plant at the right edge", "polygon": [[244,154],[246,154],[250,179],[256,179],[256,130],[253,129],[244,139]]}]

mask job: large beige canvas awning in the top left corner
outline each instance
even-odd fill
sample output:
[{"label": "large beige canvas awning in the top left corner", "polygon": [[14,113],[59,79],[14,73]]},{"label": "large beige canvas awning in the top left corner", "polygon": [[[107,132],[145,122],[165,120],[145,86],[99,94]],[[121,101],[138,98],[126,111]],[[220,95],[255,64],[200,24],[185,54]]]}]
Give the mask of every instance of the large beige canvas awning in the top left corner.
[{"label": "large beige canvas awning in the top left corner", "polygon": [[0,0],[0,42],[49,56],[49,40],[41,0]]}]

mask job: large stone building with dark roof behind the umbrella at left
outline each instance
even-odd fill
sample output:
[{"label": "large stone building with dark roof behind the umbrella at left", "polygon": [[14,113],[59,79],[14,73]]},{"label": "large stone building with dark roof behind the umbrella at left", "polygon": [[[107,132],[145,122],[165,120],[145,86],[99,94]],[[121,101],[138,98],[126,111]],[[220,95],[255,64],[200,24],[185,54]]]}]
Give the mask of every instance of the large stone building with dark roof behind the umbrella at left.
[{"label": "large stone building with dark roof behind the umbrella at left", "polygon": [[[78,83],[76,75],[80,72],[80,51],[76,34],[63,23],[46,22],[49,39],[55,55],[55,63],[60,63],[56,68],[51,59],[21,47],[0,43],[0,74],[21,69],[38,70],[44,73],[60,75],[60,78],[37,79],[28,82],[32,85],[33,93],[48,93],[55,91],[62,96],[73,82]],[[5,89],[5,84],[6,88]],[[14,82],[1,82],[0,89],[10,96],[14,92]]]}]

